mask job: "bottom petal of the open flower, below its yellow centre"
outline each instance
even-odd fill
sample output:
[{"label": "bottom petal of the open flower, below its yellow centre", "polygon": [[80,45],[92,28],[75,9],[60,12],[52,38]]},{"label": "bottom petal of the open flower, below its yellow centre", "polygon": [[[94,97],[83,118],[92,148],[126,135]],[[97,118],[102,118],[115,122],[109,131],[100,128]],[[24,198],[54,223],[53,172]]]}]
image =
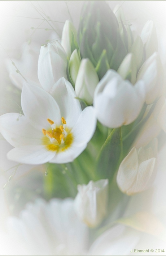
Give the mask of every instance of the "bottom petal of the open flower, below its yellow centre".
[{"label": "bottom petal of the open flower, below its yellow centre", "polygon": [[81,146],[72,145],[70,148],[67,148],[65,151],[57,153],[54,158],[52,158],[49,162],[56,164],[64,164],[73,162],[77,156],[79,156],[84,149],[87,147],[87,144]]}]

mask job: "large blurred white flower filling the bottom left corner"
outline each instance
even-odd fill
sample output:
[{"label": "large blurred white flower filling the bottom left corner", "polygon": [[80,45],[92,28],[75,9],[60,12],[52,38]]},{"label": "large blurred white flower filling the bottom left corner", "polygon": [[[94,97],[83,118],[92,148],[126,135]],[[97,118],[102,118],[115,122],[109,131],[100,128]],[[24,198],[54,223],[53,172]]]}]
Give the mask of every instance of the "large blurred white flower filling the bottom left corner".
[{"label": "large blurred white flower filling the bottom left corner", "polygon": [[88,228],[77,218],[71,198],[28,203],[7,224],[5,255],[85,255]]}]

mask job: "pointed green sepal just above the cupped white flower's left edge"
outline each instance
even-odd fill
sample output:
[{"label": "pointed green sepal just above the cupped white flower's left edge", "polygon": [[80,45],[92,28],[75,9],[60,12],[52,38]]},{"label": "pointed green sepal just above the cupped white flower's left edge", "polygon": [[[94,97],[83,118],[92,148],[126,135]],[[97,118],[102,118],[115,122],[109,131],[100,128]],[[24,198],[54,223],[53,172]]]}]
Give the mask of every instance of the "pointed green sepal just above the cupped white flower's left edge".
[{"label": "pointed green sepal just above the cupped white flower's left edge", "polygon": [[107,72],[107,70],[109,70],[109,68],[110,67],[109,67],[107,56],[106,56],[106,50],[104,49],[101,53],[100,59],[95,68],[97,75],[99,76],[99,79],[101,79],[105,75],[105,73]]}]

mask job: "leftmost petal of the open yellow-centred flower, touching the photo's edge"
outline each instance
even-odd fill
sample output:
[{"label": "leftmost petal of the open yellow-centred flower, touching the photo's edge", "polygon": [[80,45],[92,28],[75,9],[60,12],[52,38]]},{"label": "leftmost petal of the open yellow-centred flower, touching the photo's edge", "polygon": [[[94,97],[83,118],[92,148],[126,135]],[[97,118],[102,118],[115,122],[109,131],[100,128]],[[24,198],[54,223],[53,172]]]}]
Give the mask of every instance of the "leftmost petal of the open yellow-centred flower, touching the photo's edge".
[{"label": "leftmost petal of the open yellow-centred flower, touching the photo's edge", "polygon": [[26,117],[18,113],[1,116],[1,134],[13,146],[41,145],[42,131],[36,130]]}]

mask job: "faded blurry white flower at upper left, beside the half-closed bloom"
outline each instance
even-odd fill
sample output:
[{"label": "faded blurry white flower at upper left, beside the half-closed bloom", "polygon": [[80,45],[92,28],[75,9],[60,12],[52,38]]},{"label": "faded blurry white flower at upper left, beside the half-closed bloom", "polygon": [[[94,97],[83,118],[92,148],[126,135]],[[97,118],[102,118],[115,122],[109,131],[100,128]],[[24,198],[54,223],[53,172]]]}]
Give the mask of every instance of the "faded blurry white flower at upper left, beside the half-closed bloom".
[{"label": "faded blurry white flower at upper left, beside the half-closed bloom", "polygon": [[[40,45],[35,42],[22,45],[22,54],[20,59],[13,59],[15,66],[10,59],[6,60],[6,68],[9,72],[9,77],[12,83],[22,89],[25,79],[28,83],[33,83],[40,86],[38,80],[38,58],[40,53]],[[17,67],[17,68],[16,68]],[[16,70],[21,73],[17,73]],[[23,78],[24,77],[24,78]]]}]

